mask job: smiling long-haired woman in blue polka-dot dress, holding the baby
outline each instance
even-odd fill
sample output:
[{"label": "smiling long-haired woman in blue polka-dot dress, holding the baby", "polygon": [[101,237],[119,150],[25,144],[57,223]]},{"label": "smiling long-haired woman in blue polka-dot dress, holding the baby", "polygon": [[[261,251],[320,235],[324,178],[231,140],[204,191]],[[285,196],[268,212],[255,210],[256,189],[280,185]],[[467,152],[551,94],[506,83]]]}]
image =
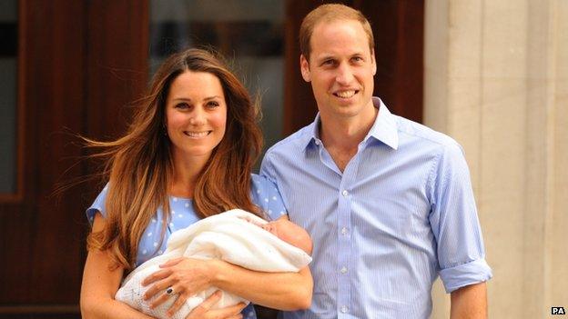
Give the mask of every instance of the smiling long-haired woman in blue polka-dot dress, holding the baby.
[{"label": "smiling long-haired woman in blue polka-dot dress, holding the baby", "polygon": [[[232,208],[284,214],[274,184],[250,174],[261,145],[256,114],[247,90],[215,55],[190,49],[157,70],[127,135],[89,141],[103,149],[96,156],[107,158],[109,182],[87,210],[93,231],[81,288],[85,318],[147,318],[114,295],[123,276],[162,254],[177,229]],[[176,294],[171,314],[210,286],[282,310],[307,308],[311,301],[308,267],[269,274],[178,258],[161,268],[145,280],[145,297],[157,295],[157,305]],[[218,298],[212,294],[188,318],[255,317],[250,305],[209,310]]]}]

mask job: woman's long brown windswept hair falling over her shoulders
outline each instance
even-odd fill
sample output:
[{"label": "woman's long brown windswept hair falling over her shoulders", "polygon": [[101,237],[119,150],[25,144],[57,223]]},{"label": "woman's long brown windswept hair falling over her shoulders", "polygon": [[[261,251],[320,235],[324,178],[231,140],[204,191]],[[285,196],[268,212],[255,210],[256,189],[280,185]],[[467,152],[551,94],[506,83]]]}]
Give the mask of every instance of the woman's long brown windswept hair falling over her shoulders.
[{"label": "woman's long brown windswept hair falling over her shoulders", "polygon": [[170,141],[165,134],[169,87],[184,72],[207,72],[221,82],[228,105],[227,129],[198,176],[193,205],[200,217],[241,208],[260,214],[250,198],[250,173],[262,146],[258,105],[216,54],[200,49],[171,55],[154,75],[147,96],[137,106],[127,135],[111,142],[86,139],[104,158],[108,176],[106,227],[91,233],[88,249],[109,250],[115,266],[134,267],[138,242],[162,207],[162,241],[169,223],[167,189],[173,178]]}]

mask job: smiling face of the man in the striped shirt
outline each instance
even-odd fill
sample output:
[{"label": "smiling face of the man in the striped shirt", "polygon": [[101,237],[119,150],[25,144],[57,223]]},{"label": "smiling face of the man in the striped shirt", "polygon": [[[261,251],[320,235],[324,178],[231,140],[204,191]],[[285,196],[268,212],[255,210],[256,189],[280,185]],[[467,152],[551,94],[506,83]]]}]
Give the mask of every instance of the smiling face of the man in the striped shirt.
[{"label": "smiling face of the man in the striped shirt", "polygon": [[373,109],[374,53],[360,22],[321,22],[310,39],[309,61],[300,56],[300,69],[311,87],[322,118],[366,116]]}]

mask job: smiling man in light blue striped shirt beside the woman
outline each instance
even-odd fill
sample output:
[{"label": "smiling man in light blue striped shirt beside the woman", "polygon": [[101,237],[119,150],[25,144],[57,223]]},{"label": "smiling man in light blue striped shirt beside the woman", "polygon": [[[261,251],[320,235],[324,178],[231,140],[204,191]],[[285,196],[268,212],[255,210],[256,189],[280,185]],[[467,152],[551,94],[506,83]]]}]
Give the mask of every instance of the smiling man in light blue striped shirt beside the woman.
[{"label": "smiling man in light blue striped shirt beside the woman", "polygon": [[314,243],[311,307],[284,317],[427,318],[438,275],[451,318],[486,317],[492,273],[460,145],[372,97],[373,36],[359,11],[321,5],[299,38],[320,112],[261,167],[287,205],[280,218]]}]

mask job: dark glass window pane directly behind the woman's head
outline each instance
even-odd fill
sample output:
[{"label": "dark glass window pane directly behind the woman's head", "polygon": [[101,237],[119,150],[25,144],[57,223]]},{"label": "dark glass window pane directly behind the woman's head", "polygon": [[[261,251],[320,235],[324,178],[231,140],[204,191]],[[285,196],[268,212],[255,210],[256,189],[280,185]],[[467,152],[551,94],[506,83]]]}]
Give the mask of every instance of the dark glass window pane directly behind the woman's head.
[{"label": "dark glass window pane directly behind the woman's head", "polygon": [[261,96],[266,149],[282,137],[283,20],[283,0],[151,0],[150,75],[167,55],[213,46]]}]

